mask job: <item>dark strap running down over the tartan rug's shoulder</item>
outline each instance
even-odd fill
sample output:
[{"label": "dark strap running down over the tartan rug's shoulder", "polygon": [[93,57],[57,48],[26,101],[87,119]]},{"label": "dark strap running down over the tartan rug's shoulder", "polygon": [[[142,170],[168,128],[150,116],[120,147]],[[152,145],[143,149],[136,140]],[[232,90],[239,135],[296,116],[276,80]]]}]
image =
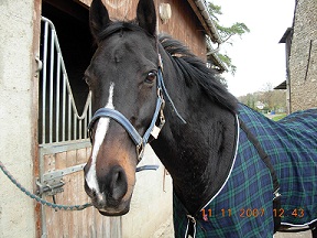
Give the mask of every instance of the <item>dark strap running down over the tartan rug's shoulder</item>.
[{"label": "dark strap running down over the tartan rug's shoulder", "polygon": [[[271,163],[270,156],[265,153],[265,151],[261,147],[259,140],[251,133],[251,131],[248,129],[245,123],[241,119],[239,119],[239,121],[240,121],[240,128],[245,132],[247,138],[254,145],[254,148],[256,149],[260,158],[262,159],[262,161],[265,163],[265,165],[270,170],[271,177],[272,177],[272,181],[273,181],[273,188],[274,188],[274,192],[273,192],[273,194],[274,194],[273,209],[280,210],[281,209],[281,194],[278,193],[280,183],[278,183],[277,175],[276,175],[276,172],[274,170],[274,166]],[[281,226],[281,217],[280,216],[274,216],[274,232],[276,232],[278,230],[280,226]]]}]

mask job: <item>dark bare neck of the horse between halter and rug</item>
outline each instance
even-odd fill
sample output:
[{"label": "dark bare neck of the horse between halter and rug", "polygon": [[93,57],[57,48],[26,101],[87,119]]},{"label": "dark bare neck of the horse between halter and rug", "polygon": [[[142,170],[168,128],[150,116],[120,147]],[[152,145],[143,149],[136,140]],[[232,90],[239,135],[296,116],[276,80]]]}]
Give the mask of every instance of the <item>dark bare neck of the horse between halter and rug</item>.
[{"label": "dark bare neck of the horse between halter and rug", "polygon": [[166,125],[152,147],[173,177],[174,192],[194,214],[225,183],[234,153],[236,118],[198,88],[193,91],[195,86],[187,90],[171,93],[187,123],[166,105]]}]

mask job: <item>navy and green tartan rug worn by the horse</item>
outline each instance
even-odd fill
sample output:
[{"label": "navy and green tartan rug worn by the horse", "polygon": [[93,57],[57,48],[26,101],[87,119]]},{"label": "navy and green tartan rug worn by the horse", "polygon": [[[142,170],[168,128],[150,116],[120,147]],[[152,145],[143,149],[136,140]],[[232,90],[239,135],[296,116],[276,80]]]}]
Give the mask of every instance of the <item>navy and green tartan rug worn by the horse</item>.
[{"label": "navy and green tartan rug worn by the horse", "polygon": [[[174,194],[175,237],[273,237],[282,225],[317,221],[317,109],[298,111],[278,122],[240,105],[237,154],[222,187],[193,216]],[[280,182],[281,208],[273,208],[273,181],[248,133],[269,155]],[[193,228],[190,228],[193,224]]]}]

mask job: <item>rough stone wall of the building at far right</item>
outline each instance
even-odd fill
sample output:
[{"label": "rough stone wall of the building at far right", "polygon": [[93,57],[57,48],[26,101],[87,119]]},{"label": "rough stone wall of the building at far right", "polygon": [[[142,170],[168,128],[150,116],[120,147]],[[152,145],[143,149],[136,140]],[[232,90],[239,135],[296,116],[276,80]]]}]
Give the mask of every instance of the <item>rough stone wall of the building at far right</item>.
[{"label": "rough stone wall of the building at far right", "polygon": [[298,0],[291,48],[291,110],[317,107],[317,1]]}]

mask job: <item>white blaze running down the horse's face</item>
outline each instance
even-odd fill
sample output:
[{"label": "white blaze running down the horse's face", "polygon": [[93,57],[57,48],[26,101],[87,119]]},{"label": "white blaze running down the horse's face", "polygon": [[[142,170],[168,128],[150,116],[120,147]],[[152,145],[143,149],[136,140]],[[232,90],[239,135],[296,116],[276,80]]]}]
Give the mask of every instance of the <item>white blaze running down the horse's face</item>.
[{"label": "white blaze running down the horse's face", "polygon": [[[114,84],[111,83],[110,88],[109,88],[108,102],[105,106],[105,108],[114,109],[113,88],[114,88]],[[98,155],[100,145],[103,142],[106,133],[108,131],[109,122],[110,122],[110,118],[100,118],[98,120],[97,129],[95,132],[95,141],[94,141],[95,143],[94,143],[94,149],[92,149],[92,154],[91,154],[91,165],[90,165],[88,173],[86,174],[86,182],[89,188],[92,191],[96,191],[97,194],[100,193],[98,181],[97,181],[97,173],[96,173],[97,155]]]}]

